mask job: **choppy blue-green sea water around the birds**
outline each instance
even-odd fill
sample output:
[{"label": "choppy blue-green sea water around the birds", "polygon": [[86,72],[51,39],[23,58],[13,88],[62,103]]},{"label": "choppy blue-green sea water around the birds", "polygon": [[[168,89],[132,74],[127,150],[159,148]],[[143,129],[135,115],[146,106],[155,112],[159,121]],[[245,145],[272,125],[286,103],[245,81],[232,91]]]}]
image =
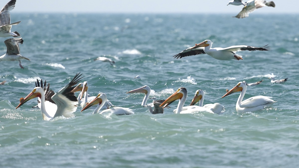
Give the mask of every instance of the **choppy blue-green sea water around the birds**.
[{"label": "choppy blue-green sea water around the birds", "polygon": [[[12,13],[11,22],[22,21],[12,28],[24,39],[21,54],[31,61],[22,60],[24,70],[17,61],[0,62],[0,82],[7,81],[0,85],[0,167],[298,167],[299,15],[231,16]],[[269,44],[271,51],[238,52],[239,61],[172,57],[206,39],[213,47]],[[94,61],[98,56],[115,65]],[[44,121],[31,108],[37,98],[16,109],[36,79],[57,92],[79,72],[91,96],[104,92],[135,114],[92,115],[79,106],[75,117]],[[248,86],[244,99],[266,95],[277,103],[238,113],[239,92],[221,97],[243,80],[264,80]],[[220,103],[225,112],[173,114],[175,101],[164,114],[150,114],[141,106],[144,94],[126,94],[144,85],[158,99],[183,86],[186,105],[202,89],[204,104]]]}]

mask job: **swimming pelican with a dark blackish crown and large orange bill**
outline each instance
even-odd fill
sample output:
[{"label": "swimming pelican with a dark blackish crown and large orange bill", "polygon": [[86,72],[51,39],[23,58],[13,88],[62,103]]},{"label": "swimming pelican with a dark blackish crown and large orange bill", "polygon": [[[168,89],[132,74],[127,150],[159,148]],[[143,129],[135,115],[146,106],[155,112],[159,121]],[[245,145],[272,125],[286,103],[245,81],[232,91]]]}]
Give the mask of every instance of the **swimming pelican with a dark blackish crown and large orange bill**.
[{"label": "swimming pelican with a dark blackish crown and large orange bill", "polygon": [[175,100],[179,100],[179,104],[176,110],[173,110],[173,113],[175,114],[191,114],[195,112],[209,112],[214,113],[212,110],[200,106],[188,106],[187,109],[184,109],[184,104],[187,97],[187,89],[184,87],[180,87],[174,94],[172,94],[170,97],[168,97],[161,105],[160,107],[165,107],[170,105]]}]

